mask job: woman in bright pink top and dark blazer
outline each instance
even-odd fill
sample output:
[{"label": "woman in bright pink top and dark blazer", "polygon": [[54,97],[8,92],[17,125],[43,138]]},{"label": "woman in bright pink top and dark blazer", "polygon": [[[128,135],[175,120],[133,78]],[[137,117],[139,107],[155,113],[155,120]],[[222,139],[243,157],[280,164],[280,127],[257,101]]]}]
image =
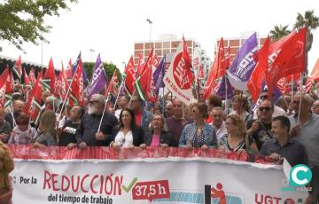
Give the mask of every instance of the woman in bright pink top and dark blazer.
[{"label": "woman in bright pink top and dark blazer", "polygon": [[144,144],[141,147],[167,147],[173,145],[173,135],[167,131],[167,124],[162,114],[154,114],[149,125],[149,131],[144,135]]}]

